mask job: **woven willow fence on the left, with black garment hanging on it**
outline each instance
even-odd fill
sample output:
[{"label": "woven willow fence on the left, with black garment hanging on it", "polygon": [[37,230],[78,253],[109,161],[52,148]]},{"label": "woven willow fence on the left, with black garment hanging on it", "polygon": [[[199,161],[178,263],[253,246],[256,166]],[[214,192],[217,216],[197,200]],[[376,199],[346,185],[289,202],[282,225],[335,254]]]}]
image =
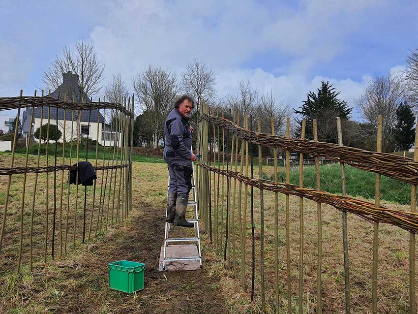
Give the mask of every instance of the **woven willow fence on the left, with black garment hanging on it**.
[{"label": "woven willow fence on the left, with black garment hanging on it", "polygon": [[[133,96],[120,103],[100,98],[74,102],[72,96],[59,94],[56,99],[43,91],[40,97],[36,91],[34,96],[21,91],[19,97],[0,97],[0,110],[17,109],[11,154],[2,155],[0,168],[0,251],[8,268],[16,262],[19,272],[29,262],[32,271],[34,262],[62,256],[127,217],[132,204],[133,106]],[[32,136],[26,136],[26,154],[17,154],[18,121],[25,108],[31,109],[26,120]],[[35,109],[40,110],[36,117]],[[86,115],[88,120],[82,120]],[[35,141],[33,126],[45,125],[47,134],[40,128],[39,138],[51,139],[51,126],[58,126],[60,142]],[[88,130],[84,134],[82,126]],[[100,142],[108,146],[99,145],[100,134]],[[78,183],[78,162],[83,160],[92,164],[97,180],[93,186],[70,185],[69,170],[76,171]]]}]

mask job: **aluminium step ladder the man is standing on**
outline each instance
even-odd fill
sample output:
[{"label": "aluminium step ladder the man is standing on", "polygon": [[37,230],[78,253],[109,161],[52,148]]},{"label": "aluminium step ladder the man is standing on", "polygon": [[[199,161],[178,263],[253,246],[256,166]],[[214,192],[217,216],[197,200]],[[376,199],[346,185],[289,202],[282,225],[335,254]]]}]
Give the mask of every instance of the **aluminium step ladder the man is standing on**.
[{"label": "aluminium step ladder the man is standing on", "polygon": [[[170,183],[170,174],[168,177],[168,182]],[[194,162],[192,162],[192,191],[193,199],[188,201],[188,206],[193,206],[194,208],[194,219],[187,220],[194,224],[194,234],[192,238],[169,238],[168,232],[170,231],[170,223],[165,223],[165,234],[164,234],[164,255],[163,255],[163,270],[165,270],[165,263],[171,261],[185,261],[185,260],[197,260],[199,261],[199,266],[202,268],[202,254],[200,251],[200,233],[199,233],[199,219],[197,214],[197,198],[196,198],[196,181],[195,181],[195,172],[194,172]],[[167,191],[168,194],[168,191]],[[167,213],[166,213],[167,218]],[[181,257],[166,257],[167,246],[169,243],[175,242],[195,242],[197,246],[198,256],[181,256]]]}]

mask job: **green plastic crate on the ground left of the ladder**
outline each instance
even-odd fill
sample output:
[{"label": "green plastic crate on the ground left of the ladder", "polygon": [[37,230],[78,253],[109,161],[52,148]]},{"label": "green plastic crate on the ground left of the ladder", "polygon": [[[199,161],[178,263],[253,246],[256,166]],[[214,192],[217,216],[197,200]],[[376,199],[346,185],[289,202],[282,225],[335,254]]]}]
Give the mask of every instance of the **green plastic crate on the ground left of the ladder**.
[{"label": "green plastic crate on the ground left of the ladder", "polygon": [[107,265],[109,288],[132,293],[144,289],[145,264],[119,260]]}]

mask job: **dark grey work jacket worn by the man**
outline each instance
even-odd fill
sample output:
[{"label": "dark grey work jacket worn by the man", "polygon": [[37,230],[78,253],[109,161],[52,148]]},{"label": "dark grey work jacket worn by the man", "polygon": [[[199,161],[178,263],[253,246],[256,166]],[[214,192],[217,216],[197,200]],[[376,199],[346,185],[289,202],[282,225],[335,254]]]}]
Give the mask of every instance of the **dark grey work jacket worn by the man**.
[{"label": "dark grey work jacket worn by the man", "polygon": [[189,122],[181,117],[177,108],[167,116],[164,124],[165,147],[164,160],[167,163],[178,162],[191,165],[192,135]]}]

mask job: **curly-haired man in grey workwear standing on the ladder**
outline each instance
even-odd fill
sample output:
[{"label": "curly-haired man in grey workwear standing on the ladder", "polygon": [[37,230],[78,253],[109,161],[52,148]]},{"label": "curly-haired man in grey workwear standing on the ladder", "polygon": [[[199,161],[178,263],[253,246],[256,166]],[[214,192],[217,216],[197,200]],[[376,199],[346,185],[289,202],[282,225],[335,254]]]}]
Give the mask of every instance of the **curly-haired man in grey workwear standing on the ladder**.
[{"label": "curly-haired man in grey workwear standing on the ladder", "polygon": [[167,222],[176,226],[193,228],[194,224],[185,219],[189,192],[192,188],[192,162],[196,155],[192,153],[192,136],[189,116],[194,100],[183,95],[174,103],[165,125],[164,160],[168,163],[170,182],[167,196]]}]

